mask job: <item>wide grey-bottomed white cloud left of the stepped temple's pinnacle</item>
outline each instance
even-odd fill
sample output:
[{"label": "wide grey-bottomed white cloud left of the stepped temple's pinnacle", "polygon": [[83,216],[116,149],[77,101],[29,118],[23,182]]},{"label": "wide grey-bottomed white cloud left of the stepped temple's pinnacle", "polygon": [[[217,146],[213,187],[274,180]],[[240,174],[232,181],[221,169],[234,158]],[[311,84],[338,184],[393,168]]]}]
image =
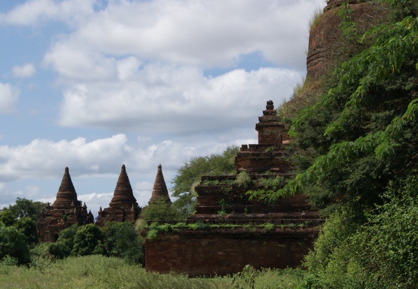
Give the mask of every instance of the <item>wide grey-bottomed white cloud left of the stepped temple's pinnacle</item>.
[{"label": "wide grey-bottomed white cloud left of the stepped temple's pinnacle", "polygon": [[129,81],[76,85],[64,92],[60,123],[159,133],[248,127],[259,107],[289,97],[292,70],[234,70],[206,78],[192,67],[150,64]]}]

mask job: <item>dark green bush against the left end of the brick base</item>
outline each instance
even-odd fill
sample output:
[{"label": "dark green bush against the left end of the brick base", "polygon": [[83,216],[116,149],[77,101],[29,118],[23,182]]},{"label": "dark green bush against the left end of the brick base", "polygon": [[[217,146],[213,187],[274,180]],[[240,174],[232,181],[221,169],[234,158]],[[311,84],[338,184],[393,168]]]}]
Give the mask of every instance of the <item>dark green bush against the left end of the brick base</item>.
[{"label": "dark green bush against the left end of the brick base", "polygon": [[142,240],[131,222],[108,222],[103,228],[108,256],[125,259],[128,264],[145,262]]}]

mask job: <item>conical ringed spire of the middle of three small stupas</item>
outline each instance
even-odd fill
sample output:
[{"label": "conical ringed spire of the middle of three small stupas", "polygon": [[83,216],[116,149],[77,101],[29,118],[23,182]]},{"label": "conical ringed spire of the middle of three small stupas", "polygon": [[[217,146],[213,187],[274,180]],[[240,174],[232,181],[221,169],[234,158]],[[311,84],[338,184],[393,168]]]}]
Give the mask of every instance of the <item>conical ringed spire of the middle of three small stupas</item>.
[{"label": "conical ringed spire of the middle of three small stupas", "polygon": [[109,204],[109,207],[120,207],[126,210],[130,210],[132,205],[138,206],[137,199],[134,197],[134,192],[130,186],[128,175],[126,174],[125,165],[122,165],[120,170],[119,179],[116,183],[115,192],[113,198]]}]

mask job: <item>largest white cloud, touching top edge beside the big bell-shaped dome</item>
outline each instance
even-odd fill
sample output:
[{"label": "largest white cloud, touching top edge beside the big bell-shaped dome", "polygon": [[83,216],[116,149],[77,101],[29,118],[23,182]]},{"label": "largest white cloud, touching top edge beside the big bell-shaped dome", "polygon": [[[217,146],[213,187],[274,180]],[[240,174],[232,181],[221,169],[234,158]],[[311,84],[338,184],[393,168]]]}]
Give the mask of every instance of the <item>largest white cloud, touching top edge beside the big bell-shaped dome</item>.
[{"label": "largest white cloud, touching top edge beside the big bell-shaped dome", "polygon": [[[257,0],[109,2],[51,47],[46,63],[62,73],[66,55],[79,61],[72,66],[83,69],[85,61],[102,54],[229,67],[241,55],[259,51],[276,65],[303,69],[307,19],[319,5],[325,4],[322,0],[267,0],[263,5]],[[80,54],[85,57],[76,57]]]}]

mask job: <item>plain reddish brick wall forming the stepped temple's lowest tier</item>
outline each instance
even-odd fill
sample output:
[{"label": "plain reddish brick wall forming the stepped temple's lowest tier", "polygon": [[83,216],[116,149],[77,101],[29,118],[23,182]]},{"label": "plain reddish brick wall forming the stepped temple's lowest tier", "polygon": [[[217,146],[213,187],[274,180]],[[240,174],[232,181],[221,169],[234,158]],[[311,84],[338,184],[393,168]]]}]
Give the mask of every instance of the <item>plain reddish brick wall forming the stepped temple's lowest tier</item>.
[{"label": "plain reddish brick wall forming the stepped temple's lowest tier", "polygon": [[145,242],[147,271],[214,276],[255,268],[300,266],[318,230],[276,228],[180,230]]}]

